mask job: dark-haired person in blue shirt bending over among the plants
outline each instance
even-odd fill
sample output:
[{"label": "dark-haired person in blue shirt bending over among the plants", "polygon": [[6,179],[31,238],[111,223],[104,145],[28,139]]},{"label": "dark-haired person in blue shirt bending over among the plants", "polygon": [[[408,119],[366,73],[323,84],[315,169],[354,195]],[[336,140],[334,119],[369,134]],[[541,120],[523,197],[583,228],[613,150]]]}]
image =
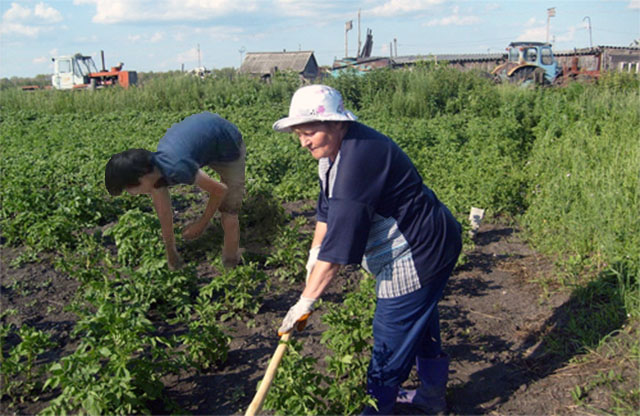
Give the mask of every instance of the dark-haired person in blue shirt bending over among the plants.
[{"label": "dark-haired person in blue shirt bending over among the plants", "polygon": [[[222,262],[234,267],[240,261],[240,225],[245,182],[245,145],[238,128],[217,114],[202,112],[174,124],[160,139],[158,150],[129,149],[111,157],[105,168],[105,185],[111,195],[123,190],[131,195],[147,194],[160,220],[162,239],[170,269],[182,266],[173,234],[173,211],[169,187],[194,184],[209,193],[204,213],[184,227],[182,237],[202,235],[216,211],[224,230]],[[220,182],[201,168],[211,167]]]}]

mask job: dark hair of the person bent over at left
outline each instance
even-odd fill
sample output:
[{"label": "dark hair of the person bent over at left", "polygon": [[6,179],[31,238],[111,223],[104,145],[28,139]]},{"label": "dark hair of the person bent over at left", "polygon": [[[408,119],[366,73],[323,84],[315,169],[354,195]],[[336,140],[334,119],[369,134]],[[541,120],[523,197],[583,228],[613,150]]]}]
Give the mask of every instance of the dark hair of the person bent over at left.
[{"label": "dark hair of the person bent over at left", "polygon": [[153,172],[153,153],[146,149],[129,149],[111,156],[104,170],[104,183],[113,196],[128,186],[140,184],[140,177]]}]

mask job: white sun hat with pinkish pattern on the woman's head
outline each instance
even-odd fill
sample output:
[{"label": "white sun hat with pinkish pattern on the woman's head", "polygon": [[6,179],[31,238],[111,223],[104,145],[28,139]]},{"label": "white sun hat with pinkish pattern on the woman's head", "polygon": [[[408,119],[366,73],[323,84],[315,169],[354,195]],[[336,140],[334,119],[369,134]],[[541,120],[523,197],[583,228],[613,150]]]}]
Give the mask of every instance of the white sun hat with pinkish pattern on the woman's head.
[{"label": "white sun hat with pinkish pattern on the woman's head", "polygon": [[355,121],[357,117],[344,109],[342,95],[326,85],[299,88],[291,98],[289,117],[273,123],[275,131],[290,132],[292,126],[313,121]]}]

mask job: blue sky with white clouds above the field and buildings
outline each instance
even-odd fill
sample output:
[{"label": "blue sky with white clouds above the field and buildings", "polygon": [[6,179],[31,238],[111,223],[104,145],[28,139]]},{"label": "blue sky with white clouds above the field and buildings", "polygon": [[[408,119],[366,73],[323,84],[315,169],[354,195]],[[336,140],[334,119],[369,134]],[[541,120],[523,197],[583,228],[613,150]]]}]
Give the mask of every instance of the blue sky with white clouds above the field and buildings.
[{"label": "blue sky with white clouds above the field and buildings", "polygon": [[238,68],[247,52],[285,50],[330,66],[356,56],[368,29],[372,56],[640,39],[640,0],[0,0],[0,16],[0,78],[50,74],[52,57],[75,53],[100,68],[101,51],[107,68],[138,72]]}]

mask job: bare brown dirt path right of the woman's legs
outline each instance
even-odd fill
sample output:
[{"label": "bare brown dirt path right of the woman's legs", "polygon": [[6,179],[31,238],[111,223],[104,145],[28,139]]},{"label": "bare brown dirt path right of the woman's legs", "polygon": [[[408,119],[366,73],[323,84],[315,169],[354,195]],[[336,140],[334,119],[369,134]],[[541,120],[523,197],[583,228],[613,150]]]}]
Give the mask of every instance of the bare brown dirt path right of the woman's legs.
[{"label": "bare brown dirt path right of the woman's legs", "polygon": [[563,363],[545,362],[541,344],[568,295],[543,296],[532,283],[551,264],[508,226],[482,227],[467,255],[441,302],[451,412],[566,413],[570,392],[549,377]]}]

